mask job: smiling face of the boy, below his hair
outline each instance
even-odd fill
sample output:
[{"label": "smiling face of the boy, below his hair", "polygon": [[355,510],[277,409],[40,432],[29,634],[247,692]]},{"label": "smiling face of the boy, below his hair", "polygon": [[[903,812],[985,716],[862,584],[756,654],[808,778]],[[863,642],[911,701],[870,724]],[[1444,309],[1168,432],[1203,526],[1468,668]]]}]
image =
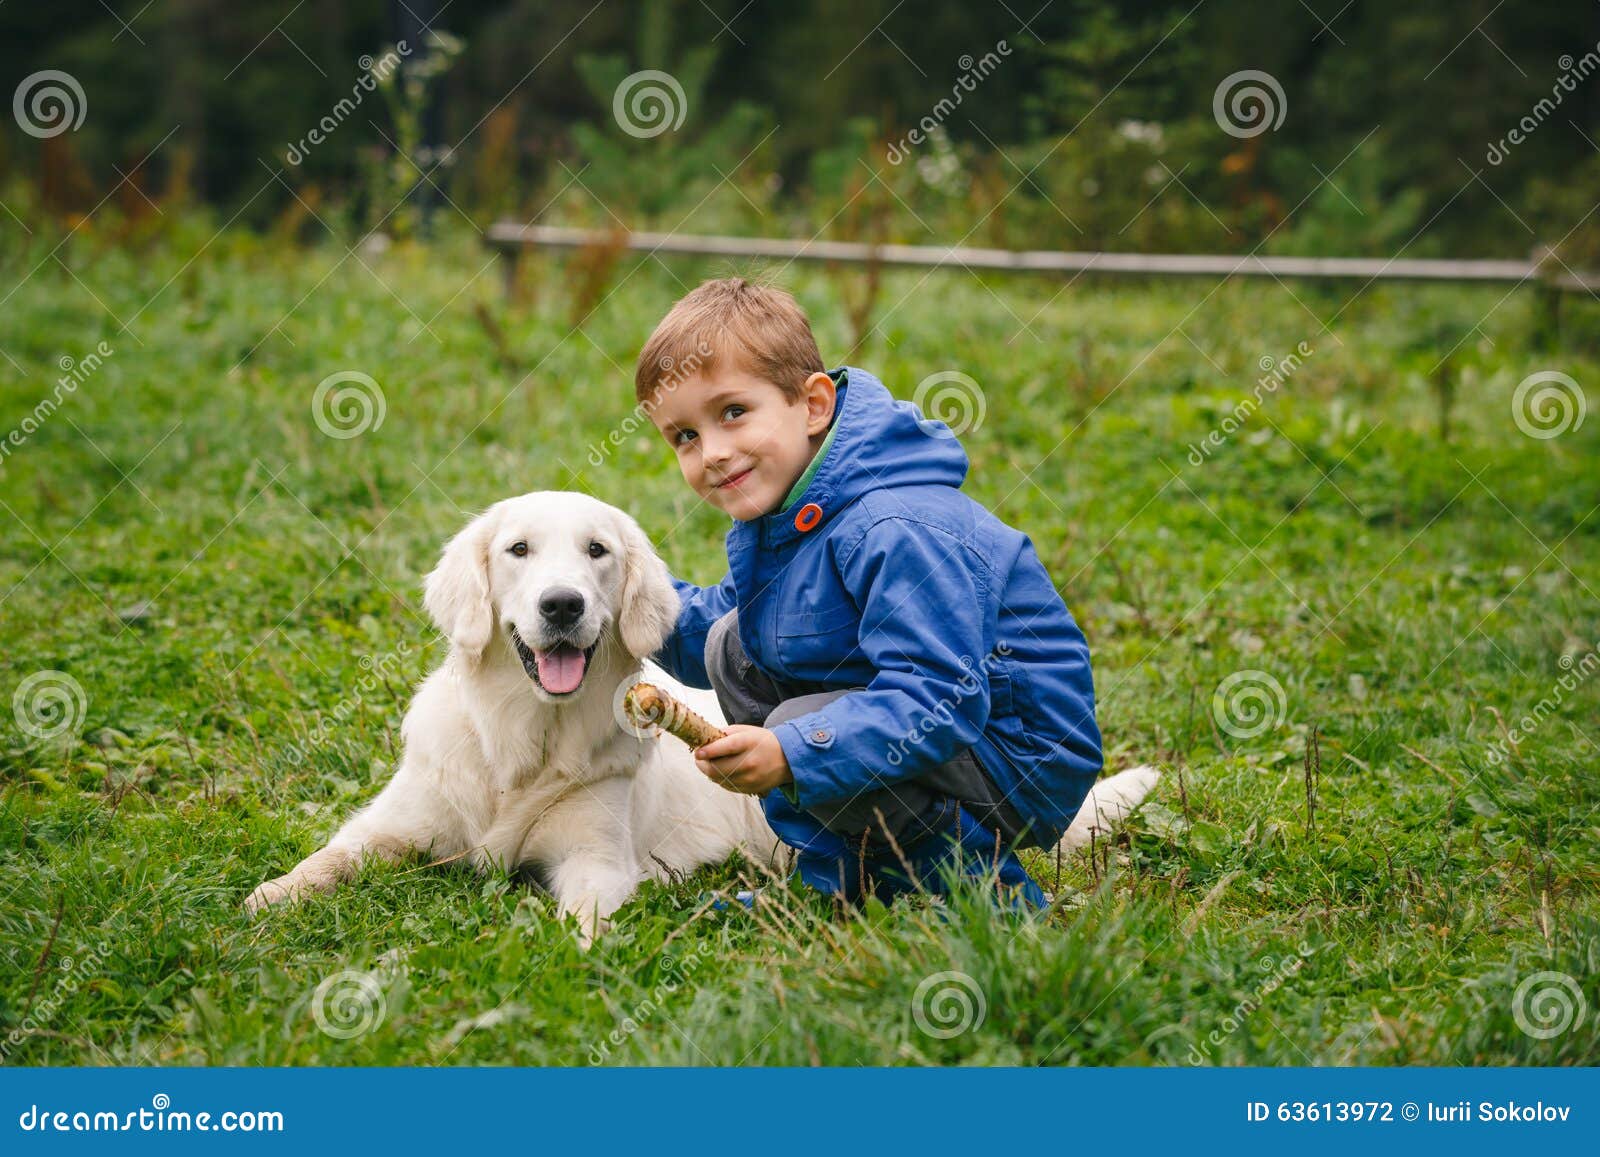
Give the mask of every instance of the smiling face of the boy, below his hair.
[{"label": "smiling face of the boy, below his hair", "polygon": [[834,416],[834,379],[814,373],[790,402],[765,378],[720,365],[659,387],[650,419],[696,494],[750,522],[782,506]]}]

